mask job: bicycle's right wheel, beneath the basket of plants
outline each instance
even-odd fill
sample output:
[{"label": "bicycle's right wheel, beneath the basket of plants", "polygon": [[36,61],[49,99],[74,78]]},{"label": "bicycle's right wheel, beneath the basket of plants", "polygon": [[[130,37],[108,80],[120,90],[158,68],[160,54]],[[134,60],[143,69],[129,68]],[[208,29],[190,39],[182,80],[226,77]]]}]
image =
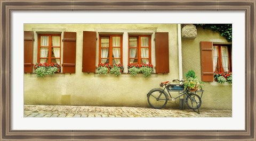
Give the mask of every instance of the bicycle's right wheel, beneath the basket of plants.
[{"label": "bicycle's right wheel, beneath the basket of plants", "polygon": [[200,96],[195,93],[188,95],[186,97],[185,101],[186,101],[186,104],[188,105],[188,107],[193,110],[199,109],[202,105],[202,100],[201,100]]}]

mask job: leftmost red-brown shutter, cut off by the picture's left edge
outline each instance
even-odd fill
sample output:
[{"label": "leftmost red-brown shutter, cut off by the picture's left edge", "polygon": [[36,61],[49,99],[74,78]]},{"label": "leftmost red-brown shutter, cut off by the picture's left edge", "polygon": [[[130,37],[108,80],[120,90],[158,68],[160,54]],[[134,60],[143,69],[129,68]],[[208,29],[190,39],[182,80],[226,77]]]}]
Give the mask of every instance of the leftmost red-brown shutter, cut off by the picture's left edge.
[{"label": "leftmost red-brown shutter, cut off by the picture's left edge", "polygon": [[34,32],[24,31],[24,72],[33,72],[33,41]]}]

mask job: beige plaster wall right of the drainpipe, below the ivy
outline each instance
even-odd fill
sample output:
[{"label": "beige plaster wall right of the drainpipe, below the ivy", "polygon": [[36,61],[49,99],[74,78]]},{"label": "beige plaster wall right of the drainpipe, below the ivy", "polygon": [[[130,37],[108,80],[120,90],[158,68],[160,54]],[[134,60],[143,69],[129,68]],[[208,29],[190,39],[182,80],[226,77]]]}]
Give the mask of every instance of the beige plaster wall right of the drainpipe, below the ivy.
[{"label": "beige plaster wall right of the drainpipe, below the ivy", "polygon": [[[188,70],[193,69],[199,80],[201,80],[200,50],[201,41],[214,43],[227,43],[225,37],[218,32],[197,28],[195,39],[182,39],[182,68],[183,77]],[[205,82],[205,90],[202,97],[202,108],[205,109],[232,109],[232,86],[228,83],[218,84],[217,82]]]}]

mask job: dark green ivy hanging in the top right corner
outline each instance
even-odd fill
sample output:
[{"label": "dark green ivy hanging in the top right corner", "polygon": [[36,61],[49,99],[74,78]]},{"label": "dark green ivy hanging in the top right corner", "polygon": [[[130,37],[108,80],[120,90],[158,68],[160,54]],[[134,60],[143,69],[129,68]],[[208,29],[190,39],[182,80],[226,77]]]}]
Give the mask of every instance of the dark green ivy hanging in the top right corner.
[{"label": "dark green ivy hanging in the top right corner", "polygon": [[221,36],[226,37],[228,42],[232,41],[232,24],[194,24],[196,27],[203,29],[211,29],[214,32],[219,32]]}]

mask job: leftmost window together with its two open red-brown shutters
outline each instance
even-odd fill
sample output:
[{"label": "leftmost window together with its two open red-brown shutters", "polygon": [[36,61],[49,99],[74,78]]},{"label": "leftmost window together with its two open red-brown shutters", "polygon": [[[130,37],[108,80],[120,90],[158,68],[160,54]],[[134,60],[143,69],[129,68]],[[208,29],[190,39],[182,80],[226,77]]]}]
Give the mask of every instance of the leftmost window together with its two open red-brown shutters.
[{"label": "leftmost window together with its two open red-brown shutters", "polygon": [[[25,73],[33,73],[35,63],[58,63],[61,65],[62,73],[76,72],[76,32],[62,33],[63,46],[61,45],[61,31],[55,34],[38,34],[36,56],[33,54],[34,31],[24,31]],[[35,62],[33,57],[37,58]]]}]

